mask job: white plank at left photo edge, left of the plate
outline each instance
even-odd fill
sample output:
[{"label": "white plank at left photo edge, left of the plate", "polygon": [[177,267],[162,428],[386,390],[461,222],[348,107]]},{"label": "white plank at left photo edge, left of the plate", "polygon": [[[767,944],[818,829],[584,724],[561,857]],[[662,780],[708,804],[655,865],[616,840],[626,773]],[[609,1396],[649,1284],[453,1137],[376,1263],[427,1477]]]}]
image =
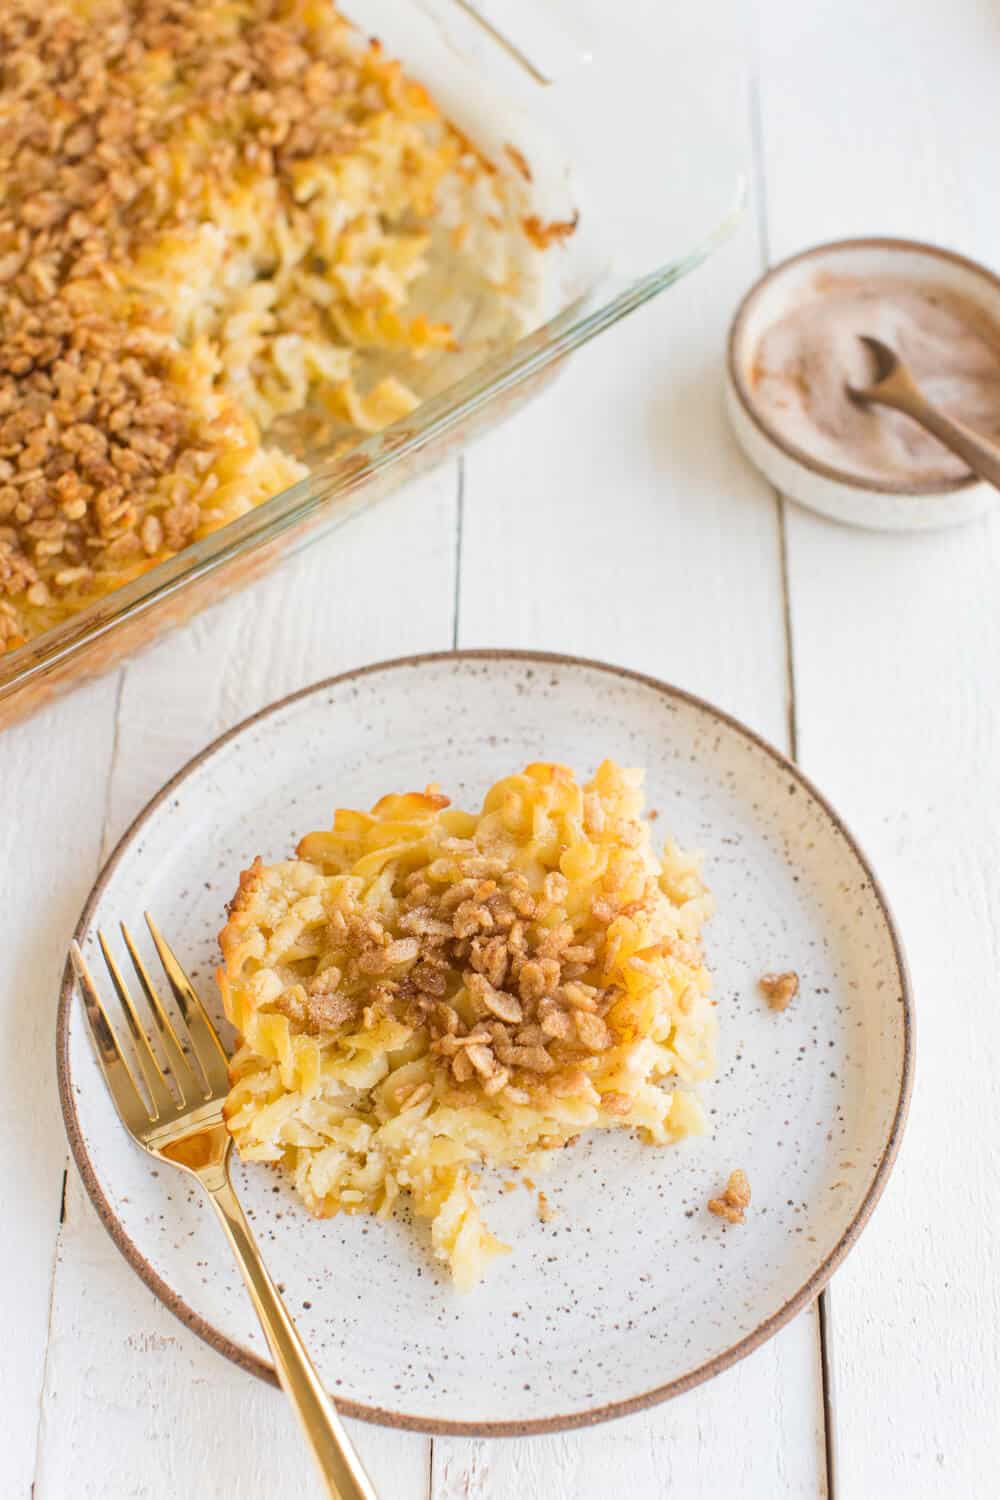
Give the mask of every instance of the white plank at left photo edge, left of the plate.
[{"label": "white plank at left photo edge, left of the plate", "polygon": [[112,676],[0,735],[4,1496],[27,1496],[34,1467],[66,1166],[55,1096],[55,994],[76,912],[97,872],[115,694]]}]

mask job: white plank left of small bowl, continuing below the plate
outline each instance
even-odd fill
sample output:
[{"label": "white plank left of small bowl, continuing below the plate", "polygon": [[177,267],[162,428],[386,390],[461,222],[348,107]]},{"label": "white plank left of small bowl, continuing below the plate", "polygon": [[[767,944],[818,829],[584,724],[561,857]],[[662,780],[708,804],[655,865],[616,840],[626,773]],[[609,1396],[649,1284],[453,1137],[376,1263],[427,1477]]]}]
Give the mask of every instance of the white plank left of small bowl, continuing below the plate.
[{"label": "white plank left of small bowl, continuing below the plate", "polygon": [[[726,432],[711,352],[759,256],[751,214],[711,266],[582,352],[516,430],[466,458],[462,645],[621,662],[786,741],[778,513]],[[822,1494],[814,1314],[711,1384],[610,1426],[435,1440],[433,1500],[612,1490]]]}]

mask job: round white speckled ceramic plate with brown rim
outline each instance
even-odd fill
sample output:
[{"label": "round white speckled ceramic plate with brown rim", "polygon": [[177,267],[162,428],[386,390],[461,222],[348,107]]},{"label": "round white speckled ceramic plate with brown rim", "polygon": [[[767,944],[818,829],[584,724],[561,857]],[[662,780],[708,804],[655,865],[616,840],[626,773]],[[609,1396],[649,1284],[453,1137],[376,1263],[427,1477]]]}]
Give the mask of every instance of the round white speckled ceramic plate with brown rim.
[{"label": "round white speckled ceramic plate with brown rim", "polygon": [[[457,1294],[403,1218],[313,1221],[262,1167],[235,1168],[276,1280],[330,1389],[357,1416],[430,1431],[528,1432],[663,1400],[748,1353],[820,1290],[864,1226],[906,1113],[904,962],[879,885],[844,825],[775,750],[651,678],[565,657],[423,657],[349,674],[274,705],[192,760],[124,836],[81,916],[150,908],[205,996],[240,868],[285,856],[334,804],[436,780],[475,806],[499,776],[558,759],[646,768],[658,828],[705,850],[720,1018],[711,1132],[655,1149],[585,1138],[534,1194],[486,1184],[514,1245]],[[775,1014],[757,993],[796,969]],[[94,962],[94,972],[100,972]],[[270,1376],[264,1340],[196,1186],[150,1170],[124,1136],[67,975],[58,1018],[76,1162],[115,1242],[180,1318]],[[733,1167],[753,1208],[706,1212]]]}]

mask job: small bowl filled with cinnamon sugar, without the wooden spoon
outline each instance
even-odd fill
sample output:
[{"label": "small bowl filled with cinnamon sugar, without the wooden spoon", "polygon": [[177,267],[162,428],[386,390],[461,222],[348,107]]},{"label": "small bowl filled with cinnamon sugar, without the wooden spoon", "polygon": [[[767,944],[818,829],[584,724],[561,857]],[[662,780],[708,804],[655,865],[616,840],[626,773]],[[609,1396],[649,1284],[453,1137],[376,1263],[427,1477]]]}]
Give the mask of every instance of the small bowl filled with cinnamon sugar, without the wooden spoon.
[{"label": "small bowl filled with cinnamon sugar, without the wooden spoon", "polygon": [[781,494],[834,520],[931,531],[981,516],[996,490],[897,412],[856,408],[858,339],[885,339],[928,398],[1000,436],[1000,278],[909,240],[816,246],[768,272],[729,338],[726,400],[744,452]]}]

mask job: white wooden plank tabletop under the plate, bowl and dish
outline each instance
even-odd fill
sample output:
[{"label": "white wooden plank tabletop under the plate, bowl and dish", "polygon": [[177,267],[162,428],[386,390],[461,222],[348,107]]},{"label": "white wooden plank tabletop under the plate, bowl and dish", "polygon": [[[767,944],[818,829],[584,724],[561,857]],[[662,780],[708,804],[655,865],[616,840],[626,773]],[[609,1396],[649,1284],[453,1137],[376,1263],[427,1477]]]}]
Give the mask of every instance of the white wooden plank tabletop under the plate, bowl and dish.
[{"label": "white wooden plank tabletop under the plate, bowl and dish", "polygon": [[[726,430],[720,356],[768,260],[822,238],[910,234],[996,267],[1000,26],[988,0],[759,10],[709,0],[697,21],[742,54],[727,114],[754,184],[711,266],[463,464],[0,738],[4,1500],[316,1494],[279,1394],[154,1300],[67,1170],[57,980],[103,855],[190,753],[319,676],[451,645],[693,688],[796,753],[859,834],[909,946],[919,1060],[900,1164],[831,1290],[837,1496],[996,1496],[1000,512],[910,538],[786,504]],[[823,1496],[819,1320],[585,1432],[354,1432],[387,1500]]]}]

